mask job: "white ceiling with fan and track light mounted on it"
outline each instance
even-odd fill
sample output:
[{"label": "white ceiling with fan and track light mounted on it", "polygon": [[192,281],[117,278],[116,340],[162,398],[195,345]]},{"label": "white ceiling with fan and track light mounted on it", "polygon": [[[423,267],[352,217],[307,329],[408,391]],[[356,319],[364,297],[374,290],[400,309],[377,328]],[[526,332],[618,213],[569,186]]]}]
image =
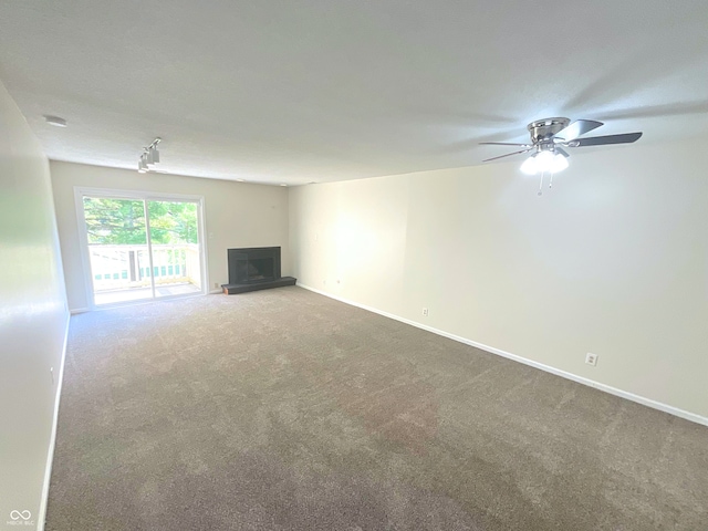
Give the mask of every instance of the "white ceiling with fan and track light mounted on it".
[{"label": "white ceiling with fan and track light mounted on it", "polygon": [[53,159],[135,168],[162,136],[169,173],[364,178],[480,164],[549,116],[708,131],[708,4],[4,1],[0,80]]}]

